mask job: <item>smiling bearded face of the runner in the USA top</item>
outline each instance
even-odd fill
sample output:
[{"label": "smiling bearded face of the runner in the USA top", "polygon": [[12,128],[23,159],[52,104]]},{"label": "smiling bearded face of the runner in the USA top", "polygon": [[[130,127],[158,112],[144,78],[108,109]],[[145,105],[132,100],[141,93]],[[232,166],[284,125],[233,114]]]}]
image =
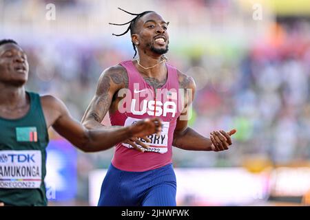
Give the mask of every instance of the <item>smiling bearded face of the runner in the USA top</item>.
[{"label": "smiling bearded face of the runner in the USA top", "polygon": [[169,45],[168,24],[155,12],[145,14],[136,23],[136,34],[132,34],[132,41],[134,43],[138,41],[137,47],[144,51],[165,54]]}]

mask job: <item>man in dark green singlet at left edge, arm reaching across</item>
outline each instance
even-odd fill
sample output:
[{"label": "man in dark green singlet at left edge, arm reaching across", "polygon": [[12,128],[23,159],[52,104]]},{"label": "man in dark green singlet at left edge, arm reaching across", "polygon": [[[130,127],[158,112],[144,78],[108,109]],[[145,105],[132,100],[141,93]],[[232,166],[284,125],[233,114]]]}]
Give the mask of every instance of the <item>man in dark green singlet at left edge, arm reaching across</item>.
[{"label": "man in dark green singlet at left edge, arm reaching across", "polygon": [[25,91],[28,69],[21,47],[12,40],[0,41],[0,206],[47,205],[45,148],[50,126],[85,152],[103,151],[130,137],[147,141],[146,135],[161,131],[157,118],[113,129],[86,129],[60,100]]}]

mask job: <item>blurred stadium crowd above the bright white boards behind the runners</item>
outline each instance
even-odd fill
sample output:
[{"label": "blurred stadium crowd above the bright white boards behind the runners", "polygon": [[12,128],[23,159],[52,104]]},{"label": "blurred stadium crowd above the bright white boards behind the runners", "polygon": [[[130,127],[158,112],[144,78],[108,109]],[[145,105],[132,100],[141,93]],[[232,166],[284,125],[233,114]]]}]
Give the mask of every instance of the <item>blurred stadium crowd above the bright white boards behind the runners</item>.
[{"label": "blurred stadium crowd above the bright white boards behind the runners", "polygon": [[[55,21],[45,19],[48,3],[56,5]],[[260,171],[309,164],[310,13],[283,14],[262,5],[262,18],[255,20],[254,3],[2,0],[0,36],[15,39],[28,54],[27,88],[61,98],[80,120],[103,69],[134,54],[129,35],[112,36],[124,27],[107,24],[130,21],[116,8],[155,10],[170,21],[168,62],[196,80],[191,126],[207,136],[238,130],[222,153],[174,148],[175,167]],[[78,152],[77,199],[87,201],[87,173],[107,168],[112,153]]]}]

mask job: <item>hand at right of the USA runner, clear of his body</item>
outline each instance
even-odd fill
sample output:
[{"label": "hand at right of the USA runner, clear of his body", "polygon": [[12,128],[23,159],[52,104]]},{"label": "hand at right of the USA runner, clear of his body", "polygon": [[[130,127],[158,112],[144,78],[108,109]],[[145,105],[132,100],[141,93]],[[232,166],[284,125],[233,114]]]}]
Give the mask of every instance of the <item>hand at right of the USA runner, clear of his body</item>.
[{"label": "hand at right of the USA runner, clear of his body", "polygon": [[211,150],[212,151],[225,151],[228,150],[229,146],[232,144],[231,135],[236,133],[236,129],[232,129],[229,132],[225,132],[223,130],[213,131],[210,133]]}]

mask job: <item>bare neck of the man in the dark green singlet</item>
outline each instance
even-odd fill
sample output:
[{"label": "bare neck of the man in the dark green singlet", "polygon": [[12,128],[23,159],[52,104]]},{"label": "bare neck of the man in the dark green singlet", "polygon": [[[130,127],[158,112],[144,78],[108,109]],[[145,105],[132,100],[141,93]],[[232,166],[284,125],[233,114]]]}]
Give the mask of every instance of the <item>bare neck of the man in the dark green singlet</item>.
[{"label": "bare neck of the man in the dark green singlet", "polygon": [[25,95],[25,87],[15,87],[0,83],[0,105],[17,107],[22,106],[27,102]]}]

